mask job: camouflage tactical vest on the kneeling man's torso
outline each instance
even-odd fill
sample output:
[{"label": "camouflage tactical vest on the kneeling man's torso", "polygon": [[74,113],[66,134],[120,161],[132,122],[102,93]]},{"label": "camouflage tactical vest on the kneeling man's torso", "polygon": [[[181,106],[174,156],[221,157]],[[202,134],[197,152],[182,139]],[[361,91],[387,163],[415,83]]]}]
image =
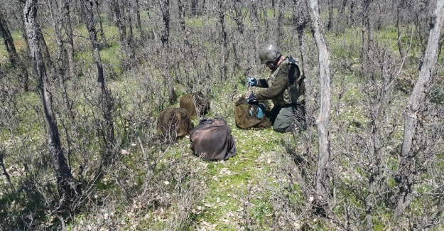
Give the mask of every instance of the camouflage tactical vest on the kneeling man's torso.
[{"label": "camouflage tactical vest on the kneeling man's torso", "polygon": [[[271,72],[268,80],[269,86],[273,85],[276,81],[276,77],[279,70],[282,68],[288,68],[288,82],[290,85],[284,90],[283,94],[279,94],[273,99],[273,104],[275,105],[285,105],[285,104],[296,104],[304,100],[305,84],[303,77],[300,75],[300,70],[298,62],[293,59],[290,55],[286,57],[281,65]],[[293,69],[293,70],[292,70]],[[299,71],[298,71],[299,70]],[[298,75],[299,73],[299,75]]]}]

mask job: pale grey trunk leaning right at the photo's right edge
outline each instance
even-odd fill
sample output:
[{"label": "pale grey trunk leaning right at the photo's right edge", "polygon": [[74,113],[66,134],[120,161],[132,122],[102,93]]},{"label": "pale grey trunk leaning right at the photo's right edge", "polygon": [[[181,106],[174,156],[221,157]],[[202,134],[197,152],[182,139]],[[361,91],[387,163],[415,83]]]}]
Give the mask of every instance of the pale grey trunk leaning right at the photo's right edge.
[{"label": "pale grey trunk leaning right at the photo's right edge", "polygon": [[416,151],[413,151],[413,141],[416,137],[418,129],[418,121],[421,118],[421,113],[426,105],[426,92],[428,85],[431,82],[431,73],[435,69],[435,64],[438,57],[438,43],[440,39],[440,32],[444,23],[444,0],[437,0],[435,12],[433,15],[435,21],[430,24],[430,33],[426,50],[424,51],[423,63],[419,72],[418,80],[416,81],[413,92],[408,99],[408,105],[404,114],[404,138],[399,154],[399,176],[398,187],[399,195],[397,196],[397,204],[394,214],[394,219],[397,219],[404,210],[410,205],[415,198],[413,188],[415,181],[413,179],[414,171],[416,171],[414,162]]}]

